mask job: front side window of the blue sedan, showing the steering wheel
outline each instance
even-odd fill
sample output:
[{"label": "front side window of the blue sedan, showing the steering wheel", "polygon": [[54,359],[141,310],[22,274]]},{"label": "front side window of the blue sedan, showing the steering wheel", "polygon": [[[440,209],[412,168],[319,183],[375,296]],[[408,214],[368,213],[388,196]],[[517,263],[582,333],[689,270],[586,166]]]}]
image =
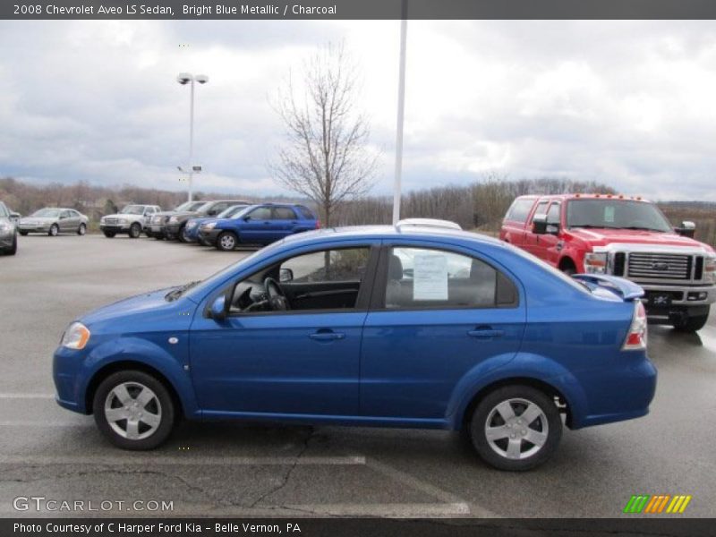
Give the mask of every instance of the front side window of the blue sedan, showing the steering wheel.
[{"label": "front side window of the blue sedan, showing the steering wheel", "polygon": [[230,313],[354,310],[368,246],[314,251],[263,268],[234,286]]}]

